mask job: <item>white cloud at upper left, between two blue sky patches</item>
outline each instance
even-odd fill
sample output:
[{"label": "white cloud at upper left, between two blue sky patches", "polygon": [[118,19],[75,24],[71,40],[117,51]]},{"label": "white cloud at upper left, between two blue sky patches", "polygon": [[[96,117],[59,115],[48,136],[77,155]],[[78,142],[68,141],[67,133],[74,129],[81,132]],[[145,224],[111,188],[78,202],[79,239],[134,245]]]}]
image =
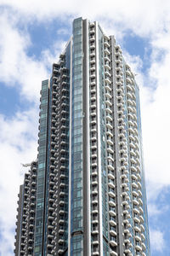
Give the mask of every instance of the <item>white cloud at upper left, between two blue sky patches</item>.
[{"label": "white cloud at upper left, between two blue sky patches", "polygon": [[44,62],[26,55],[31,46],[29,34],[16,27],[15,20],[4,14],[0,17],[0,79],[8,86],[20,86],[20,94],[37,101],[41,80],[48,78]]}]

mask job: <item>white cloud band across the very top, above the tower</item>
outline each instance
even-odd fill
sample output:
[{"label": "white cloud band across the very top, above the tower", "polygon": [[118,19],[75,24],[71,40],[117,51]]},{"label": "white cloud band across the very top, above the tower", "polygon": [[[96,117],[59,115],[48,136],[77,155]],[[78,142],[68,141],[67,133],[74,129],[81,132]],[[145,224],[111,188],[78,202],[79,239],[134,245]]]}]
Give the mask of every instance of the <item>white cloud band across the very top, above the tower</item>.
[{"label": "white cloud band across the very top, above the tower", "polygon": [[[124,1],[86,1],[79,4],[79,1],[57,2],[55,0],[26,0],[13,1],[1,0],[4,6],[12,7],[20,15],[27,19],[37,19],[44,21],[59,17],[68,21],[73,16],[84,16],[91,20],[100,20],[102,26],[106,22],[105,28],[113,29],[119,27],[122,31],[130,28],[133,32],[141,36],[151,36],[155,32],[164,30],[169,22],[170,3],[164,0],[136,0]],[[40,8],[41,7],[41,8]],[[77,8],[78,7],[78,8]],[[151,10],[151,11],[150,11]],[[109,22],[108,22],[109,20]]]}]

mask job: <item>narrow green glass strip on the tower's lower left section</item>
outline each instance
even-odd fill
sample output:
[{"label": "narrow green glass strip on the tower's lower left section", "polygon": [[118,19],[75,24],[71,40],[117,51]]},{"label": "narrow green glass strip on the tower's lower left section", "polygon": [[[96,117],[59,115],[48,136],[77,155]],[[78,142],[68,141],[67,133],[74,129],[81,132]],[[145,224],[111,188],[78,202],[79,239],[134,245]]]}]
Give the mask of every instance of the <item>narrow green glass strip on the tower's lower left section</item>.
[{"label": "narrow green glass strip on the tower's lower left section", "polygon": [[47,137],[48,137],[48,80],[42,81],[41,112],[40,112],[40,135],[39,156],[37,166],[37,207],[35,228],[35,256],[42,255],[42,237],[44,235],[44,195],[46,188],[46,160],[47,160]]}]

